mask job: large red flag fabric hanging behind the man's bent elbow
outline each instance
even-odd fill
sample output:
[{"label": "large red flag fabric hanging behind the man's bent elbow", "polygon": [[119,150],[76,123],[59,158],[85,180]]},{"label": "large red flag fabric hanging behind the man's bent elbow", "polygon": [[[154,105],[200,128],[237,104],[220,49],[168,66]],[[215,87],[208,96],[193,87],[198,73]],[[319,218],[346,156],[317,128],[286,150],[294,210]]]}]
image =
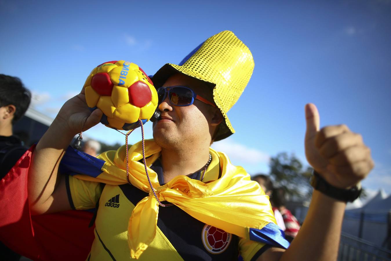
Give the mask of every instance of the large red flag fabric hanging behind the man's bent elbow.
[{"label": "large red flag fabric hanging behind the man's bent elbow", "polygon": [[94,239],[92,213],[30,214],[27,174],[34,147],[0,181],[0,241],[33,260],[85,260]]}]

